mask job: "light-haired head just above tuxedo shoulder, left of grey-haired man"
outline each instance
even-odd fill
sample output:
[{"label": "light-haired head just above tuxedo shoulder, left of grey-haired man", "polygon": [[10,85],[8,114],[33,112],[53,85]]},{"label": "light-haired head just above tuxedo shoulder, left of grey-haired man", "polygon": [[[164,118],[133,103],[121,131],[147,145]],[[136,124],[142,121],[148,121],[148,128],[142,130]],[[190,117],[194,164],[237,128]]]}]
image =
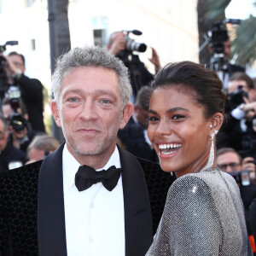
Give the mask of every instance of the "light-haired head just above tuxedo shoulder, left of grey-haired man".
[{"label": "light-haired head just above tuxedo shoulder, left of grey-haired man", "polygon": [[43,160],[45,156],[53,153],[59,146],[60,143],[55,137],[49,135],[35,136],[26,150],[28,159],[26,165]]}]

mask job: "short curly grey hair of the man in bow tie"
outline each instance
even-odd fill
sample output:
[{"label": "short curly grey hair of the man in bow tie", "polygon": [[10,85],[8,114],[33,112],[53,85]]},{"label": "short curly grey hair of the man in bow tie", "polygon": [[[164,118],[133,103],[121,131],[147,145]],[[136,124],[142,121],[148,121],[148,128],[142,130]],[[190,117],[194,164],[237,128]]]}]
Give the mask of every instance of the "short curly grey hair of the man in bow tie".
[{"label": "short curly grey hair of the man in bow tie", "polygon": [[58,58],[52,76],[52,92],[57,104],[60,100],[63,79],[76,67],[105,67],[113,70],[119,78],[122,108],[125,108],[132,93],[128,69],[122,61],[108,53],[107,49],[98,46],[74,48]]}]

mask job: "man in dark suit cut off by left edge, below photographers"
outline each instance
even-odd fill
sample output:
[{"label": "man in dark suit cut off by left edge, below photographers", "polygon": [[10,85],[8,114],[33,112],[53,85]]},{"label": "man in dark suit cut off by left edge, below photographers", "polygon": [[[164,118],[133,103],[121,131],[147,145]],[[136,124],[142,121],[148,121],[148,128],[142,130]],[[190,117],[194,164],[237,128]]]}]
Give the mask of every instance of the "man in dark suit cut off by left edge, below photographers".
[{"label": "man in dark suit cut off by left edge, below photographers", "polygon": [[9,143],[8,137],[7,121],[0,114],[0,172],[22,166],[26,161],[26,154]]}]

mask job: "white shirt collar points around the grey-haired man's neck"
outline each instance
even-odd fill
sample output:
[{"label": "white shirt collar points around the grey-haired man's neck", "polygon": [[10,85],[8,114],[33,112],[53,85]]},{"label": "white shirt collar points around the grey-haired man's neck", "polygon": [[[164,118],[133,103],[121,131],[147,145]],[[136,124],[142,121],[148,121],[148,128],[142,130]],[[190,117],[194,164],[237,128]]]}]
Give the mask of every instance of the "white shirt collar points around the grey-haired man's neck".
[{"label": "white shirt collar points around the grey-haired man's neck", "polygon": [[[62,166],[63,166],[63,191],[67,192],[74,185],[74,178],[76,173],[79,170],[79,162],[73,157],[72,154],[67,149],[67,143],[65,144],[62,152]],[[119,150],[115,146],[113,154],[109,158],[107,164],[101,169],[96,171],[101,171],[102,169],[107,170],[110,166],[116,166],[117,168],[121,167]]]}]

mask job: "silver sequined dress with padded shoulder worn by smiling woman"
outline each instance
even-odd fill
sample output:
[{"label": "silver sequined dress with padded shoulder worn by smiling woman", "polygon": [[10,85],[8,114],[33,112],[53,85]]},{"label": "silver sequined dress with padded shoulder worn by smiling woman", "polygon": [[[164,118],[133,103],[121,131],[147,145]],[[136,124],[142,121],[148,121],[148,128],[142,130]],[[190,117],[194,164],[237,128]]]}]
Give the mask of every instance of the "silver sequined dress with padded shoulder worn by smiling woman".
[{"label": "silver sequined dress with padded shoulder worn by smiling woman", "polygon": [[253,255],[235,179],[218,168],[177,178],[146,255]]}]

